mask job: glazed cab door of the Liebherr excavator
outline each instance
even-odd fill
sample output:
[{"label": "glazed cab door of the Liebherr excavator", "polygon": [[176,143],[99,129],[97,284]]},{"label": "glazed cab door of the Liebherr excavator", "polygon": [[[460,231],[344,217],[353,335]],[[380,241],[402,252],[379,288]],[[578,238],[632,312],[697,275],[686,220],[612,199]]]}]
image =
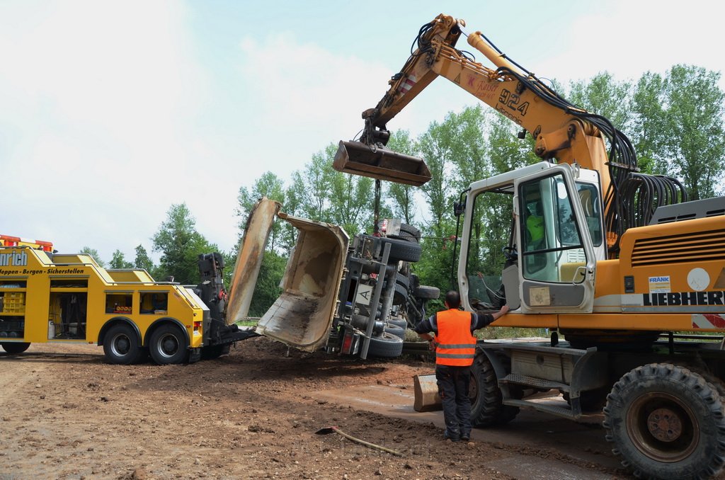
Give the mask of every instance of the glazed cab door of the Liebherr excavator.
[{"label": "glazed cab door of the Liebherr excavator", "polygon": [[590,313],[596,258],[569,165],[514,182],[522,313]]}]

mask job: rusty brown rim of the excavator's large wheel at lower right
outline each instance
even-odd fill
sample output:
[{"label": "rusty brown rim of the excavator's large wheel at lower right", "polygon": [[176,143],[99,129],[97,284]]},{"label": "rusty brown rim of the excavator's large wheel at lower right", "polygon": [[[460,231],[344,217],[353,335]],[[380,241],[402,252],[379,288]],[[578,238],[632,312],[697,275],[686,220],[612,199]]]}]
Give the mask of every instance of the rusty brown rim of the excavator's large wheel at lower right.
[{"label": "rusty brown rim of the excavator's large wheel at lower right", "polygon": [[700,424],[692,409],[665,392],[651,392],[632,402],[626,429],[634,447],[660,462],[687,458],[700,438]]}]

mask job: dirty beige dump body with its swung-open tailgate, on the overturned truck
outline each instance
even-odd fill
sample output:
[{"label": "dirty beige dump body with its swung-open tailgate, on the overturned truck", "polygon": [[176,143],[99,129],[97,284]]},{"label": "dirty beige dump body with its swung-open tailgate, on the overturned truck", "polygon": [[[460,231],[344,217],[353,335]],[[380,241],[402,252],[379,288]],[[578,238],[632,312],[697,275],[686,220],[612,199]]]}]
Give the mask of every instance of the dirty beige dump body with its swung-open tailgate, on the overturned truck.
[{"label": "dirty beige dump body with its swung-open tailgate, on the overturned truck", "polygon": [[[247,318],[265,244],[275,216],[297,228],[282,278],[282,294],[257,322],[257,334],[314,352],[330,336],[344,272],[349,236],[343,228],[278,212],[262,199],[247,220],[227,306],[227,321]],[[240,271],[248,270],[248,271]]]}]

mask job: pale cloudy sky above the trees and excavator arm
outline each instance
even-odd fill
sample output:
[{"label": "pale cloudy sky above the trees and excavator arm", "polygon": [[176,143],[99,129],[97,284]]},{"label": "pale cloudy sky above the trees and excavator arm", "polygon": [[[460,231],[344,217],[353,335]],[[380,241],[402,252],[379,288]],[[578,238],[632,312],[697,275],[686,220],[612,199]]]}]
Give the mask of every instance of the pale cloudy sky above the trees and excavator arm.
[{"label": "pale cloudy sky above the trees and excavator arm", "polygon": [[[354,138],[439,13],[567,84],[679,63],[724,73],[714,5],[0,0],[0,233],[133,261],[185,202],[228,251],[239,189]],[[415,136],[476,102],[438,79],[388,127]]]}]

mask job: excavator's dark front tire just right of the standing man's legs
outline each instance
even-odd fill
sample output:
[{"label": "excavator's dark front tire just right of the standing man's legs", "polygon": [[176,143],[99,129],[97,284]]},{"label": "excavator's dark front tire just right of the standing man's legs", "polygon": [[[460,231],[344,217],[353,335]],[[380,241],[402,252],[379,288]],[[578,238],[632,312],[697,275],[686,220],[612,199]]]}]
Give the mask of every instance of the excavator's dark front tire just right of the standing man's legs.
[{"label": "excavator's dark front tire just right of the standing man's legs", "polygon": [[518,415],[518,407],[503,405],[491,360],[479,350],[471,365],[471,423],[476,427],[504,425]]}]

